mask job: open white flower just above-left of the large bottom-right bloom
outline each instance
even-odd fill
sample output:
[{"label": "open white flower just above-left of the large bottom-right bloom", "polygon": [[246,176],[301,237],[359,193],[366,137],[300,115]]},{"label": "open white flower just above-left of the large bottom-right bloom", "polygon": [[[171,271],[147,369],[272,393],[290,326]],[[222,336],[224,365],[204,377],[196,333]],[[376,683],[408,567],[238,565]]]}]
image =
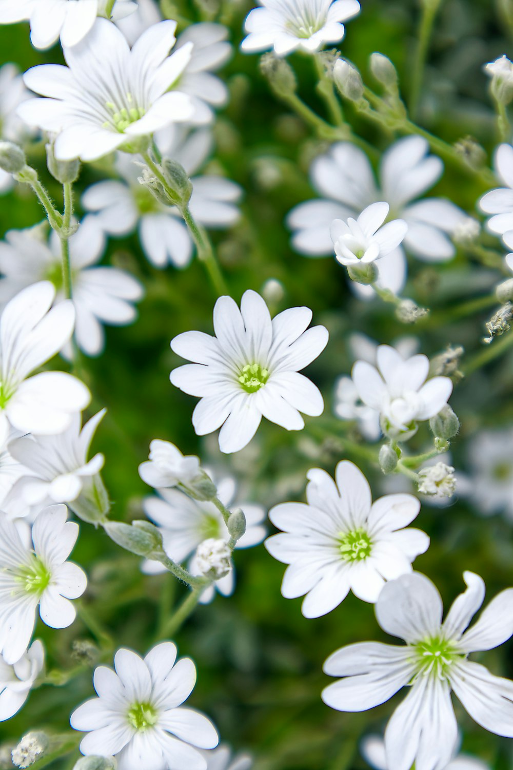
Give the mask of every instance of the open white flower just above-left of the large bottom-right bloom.
[{"label": "open white flower just above-left of the large bottom-right bloom", "polygon": [[306,594],[305,618],[331,612],[349,591],[376,601],[385,581],[411,572],[411,562],[428,549],[428,535],[408,527],[420,503],[411,494],[387,494],[373,503],[367,479],[348,460],[338,463],[336,483],[320,468],[307,477],[306,504],[282,503],[269,511],[282,532],[268,537],[265,547],[289,565],[281,594]]}]

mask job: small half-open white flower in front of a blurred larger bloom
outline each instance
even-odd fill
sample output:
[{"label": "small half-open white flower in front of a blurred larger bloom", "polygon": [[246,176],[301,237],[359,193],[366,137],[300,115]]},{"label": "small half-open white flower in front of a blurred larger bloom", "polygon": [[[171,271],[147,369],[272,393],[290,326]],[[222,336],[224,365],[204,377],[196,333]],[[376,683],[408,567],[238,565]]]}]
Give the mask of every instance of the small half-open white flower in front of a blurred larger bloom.
[{"label": "small half-open white flower in front of a blurred larger bloom", "polygon": [[375,262],[399,246],[408,225],[404,219],[394,219],[384,225],[389,210],[388,203],[371,203],[358,219],[350,216],[347,222],[335,219],[331,223],[330,236],[341,265]]}]

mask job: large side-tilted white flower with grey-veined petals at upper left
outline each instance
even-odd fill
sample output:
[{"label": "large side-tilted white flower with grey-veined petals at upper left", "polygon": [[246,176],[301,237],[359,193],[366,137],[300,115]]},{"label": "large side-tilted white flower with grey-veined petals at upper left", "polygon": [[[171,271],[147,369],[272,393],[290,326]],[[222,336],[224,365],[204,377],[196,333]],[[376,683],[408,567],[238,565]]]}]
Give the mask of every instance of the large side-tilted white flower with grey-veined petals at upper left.
[{"label": "large side-tilted white flower with grey-veined petals at upper left", "polygon": [[58,160],[145,149],[158,129],[194,119],[191,98],[173,88],[192,50],[184,45],[168,55],[175,28],[172,21],[155,24],[130,49],[114,24],[98,18],[82,42],[64,49],[68,67],[43,64],[25,72],[25,85],[45,98],[28,99],[18,114],[57,135]]}]

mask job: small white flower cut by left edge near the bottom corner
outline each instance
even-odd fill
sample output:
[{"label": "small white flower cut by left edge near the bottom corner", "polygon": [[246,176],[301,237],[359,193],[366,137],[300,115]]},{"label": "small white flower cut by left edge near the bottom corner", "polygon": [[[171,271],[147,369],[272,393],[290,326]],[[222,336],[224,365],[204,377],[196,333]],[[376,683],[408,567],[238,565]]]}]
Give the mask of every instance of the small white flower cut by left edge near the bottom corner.
[{"label": "small white flower cut by left edge near the bottom corner", "polygon": [[22,708],[44,663],[45,649],[39,640],[32,642],[13,664],[0,655],[0,721],[10,719]]}]

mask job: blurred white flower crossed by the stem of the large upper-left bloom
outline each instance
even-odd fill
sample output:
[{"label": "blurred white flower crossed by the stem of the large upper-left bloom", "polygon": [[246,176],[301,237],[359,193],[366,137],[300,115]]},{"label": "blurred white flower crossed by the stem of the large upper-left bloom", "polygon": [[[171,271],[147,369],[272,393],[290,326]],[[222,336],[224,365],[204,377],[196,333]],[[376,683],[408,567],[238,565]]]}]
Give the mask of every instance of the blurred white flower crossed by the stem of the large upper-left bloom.
[{"label": "blurred white flower crossed by the stem of the large upper-left bloom", "polygon": [[[212,150],[212,134],[200,129],[191,134],[165,129],[155,141],[162,154],[182,163],[189,175],[202,166]],[[155,267],[172,264],[185,267],[194,250],[192,238],[175,206],[165,206],[139,181],[141,168],[129,156],[119,154],[115,167],[121,180],[97,182],[85,190],[82,206],[95,213],[103,233],[127,236],[138,229],[141,246]],[[222,176],[192,176],[189,208],[196,221],[208,228],[222,229],[235,224],[242,189]]]}]

